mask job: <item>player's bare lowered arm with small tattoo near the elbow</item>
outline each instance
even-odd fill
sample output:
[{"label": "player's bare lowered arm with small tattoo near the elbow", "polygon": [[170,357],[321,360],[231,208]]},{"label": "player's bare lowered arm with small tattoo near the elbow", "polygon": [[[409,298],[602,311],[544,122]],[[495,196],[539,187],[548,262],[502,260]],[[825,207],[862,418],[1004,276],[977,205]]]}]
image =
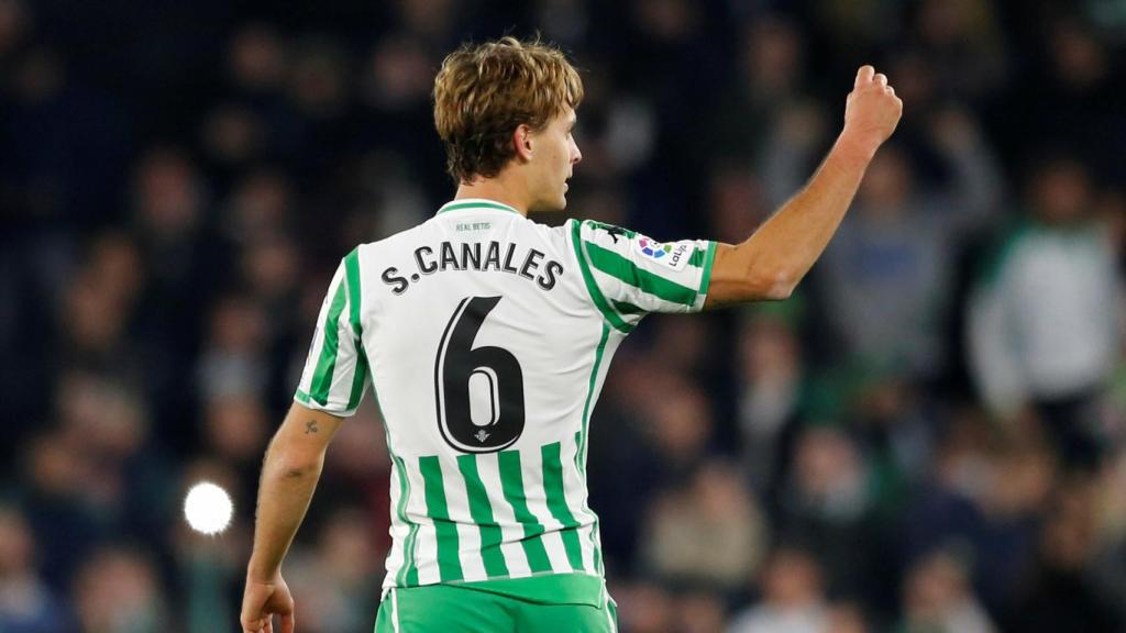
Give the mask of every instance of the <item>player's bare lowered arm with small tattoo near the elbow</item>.
[{"label": "player's bare lowered arm with small tattoo near the elbow", "polygon": [[271,614],[293,630],[293,597],[282,579],[282,561],[305,518],[321,478],[329,443],[343,418],[294,402],[266,452],[258,487],[254,546],[247,567],[243,631],[269,631]]}]

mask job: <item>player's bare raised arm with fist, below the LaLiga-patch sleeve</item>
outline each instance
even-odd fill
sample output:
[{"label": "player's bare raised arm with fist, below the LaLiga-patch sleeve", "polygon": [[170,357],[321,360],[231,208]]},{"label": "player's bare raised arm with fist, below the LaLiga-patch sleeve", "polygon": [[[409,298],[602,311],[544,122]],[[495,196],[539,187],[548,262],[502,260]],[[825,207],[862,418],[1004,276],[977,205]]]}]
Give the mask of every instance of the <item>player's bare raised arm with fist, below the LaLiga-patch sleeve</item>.
[{"label": "player's bare raised arm with fist, below the LaLiga-patch sleeve", "polygon": [[861,66],[846,101],[844,127],[805,188],[747,241],[716,247],[705,307],[788,297],[821,257],[902,113],[887,78]]}]

